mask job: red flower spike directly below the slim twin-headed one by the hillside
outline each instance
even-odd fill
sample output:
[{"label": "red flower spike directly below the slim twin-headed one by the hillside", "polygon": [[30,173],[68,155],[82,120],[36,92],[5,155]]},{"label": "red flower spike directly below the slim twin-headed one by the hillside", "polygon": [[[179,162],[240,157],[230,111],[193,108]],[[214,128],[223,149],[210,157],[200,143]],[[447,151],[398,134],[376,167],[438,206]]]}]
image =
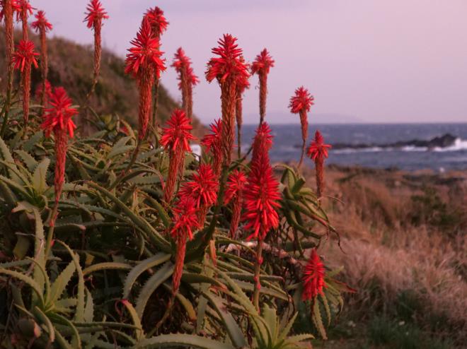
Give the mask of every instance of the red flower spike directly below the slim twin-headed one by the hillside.
[{"label": "red flower spike directly below the slim twin-headed one by the hillside", "polygon": [[167,182],[164,187],[164,200],[170,203],[175,188],[175,182],[180,173],[183,173],[185,152],[191,151],[190,141],[195,139],[190,133],[193,127],[190,119],[182,110],[174,110],[171,118],[163,129],[161,146],[169,151],[169,164]]}]

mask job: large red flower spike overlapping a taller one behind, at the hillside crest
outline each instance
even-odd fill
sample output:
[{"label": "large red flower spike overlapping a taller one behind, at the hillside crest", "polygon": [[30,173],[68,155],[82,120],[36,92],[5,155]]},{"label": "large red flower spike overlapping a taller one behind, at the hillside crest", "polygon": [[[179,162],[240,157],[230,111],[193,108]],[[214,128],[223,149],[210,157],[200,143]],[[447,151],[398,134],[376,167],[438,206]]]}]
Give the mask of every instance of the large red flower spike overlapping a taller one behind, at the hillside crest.
[{"label": "large red flower spike overlapping a taller one behind, at the hillside crest", "polygon": [[151,90],[154,76],[159,78],[161,71],[166,70],[163,52],[159,50],[158,39],[153,37],[151,25],[144,20],[137,37],[132,40],[133,47],[128,49],[125,73],[137,78],[139,85],[139,140],[146,137],[146,130],[151,118]]}]

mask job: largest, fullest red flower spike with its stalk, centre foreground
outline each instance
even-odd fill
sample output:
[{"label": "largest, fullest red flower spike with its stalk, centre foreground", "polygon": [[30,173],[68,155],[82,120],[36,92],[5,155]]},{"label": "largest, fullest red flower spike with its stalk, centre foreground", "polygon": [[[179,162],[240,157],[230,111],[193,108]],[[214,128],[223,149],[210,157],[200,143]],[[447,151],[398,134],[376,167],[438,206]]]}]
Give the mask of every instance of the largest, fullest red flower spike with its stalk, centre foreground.
[{"label": "largest, fullest red flower spike with its stalk, centre foreground", "polygon": [[[258,127],[267,126],[263,123]],[[252,231],[247,239],[257,239],[256,261],[254,269],[255,290],[253,291],[253,304],[259,311],[260,302],[260,269],[263,264],[263,240],[270,230],[279,226],[279,183],[272,173],[270,165],[268,148],[263,146],[260,140],[255,136],[253,142],[253,154],[256,154],[252,160],[248,183],[244,189],[244,208],[243,220],[246,222],[245,229]],[[264,137],[262,135],[261,137]]]}]

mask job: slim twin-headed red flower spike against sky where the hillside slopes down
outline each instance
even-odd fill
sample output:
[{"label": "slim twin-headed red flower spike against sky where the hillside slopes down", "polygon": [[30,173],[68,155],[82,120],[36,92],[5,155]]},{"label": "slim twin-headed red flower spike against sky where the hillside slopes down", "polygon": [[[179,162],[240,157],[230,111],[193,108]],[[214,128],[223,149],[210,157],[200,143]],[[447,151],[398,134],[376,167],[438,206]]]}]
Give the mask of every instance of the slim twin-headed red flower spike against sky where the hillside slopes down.
[{"label": "slim twin-headed red flower spike against sky where the hillside slopes down", "polygon": [[197,76],[195,76],[195,73],[193,73],[190,58],[185,55],[181,47],[175,52],[172,66],[178,73],[178,80],[180,81],[180,83],[178,83],[178,88],[182,91],[183,110],[185,110],[188,117],[191,119],[193,113],[193,85],[196,85],[200,81]]}]

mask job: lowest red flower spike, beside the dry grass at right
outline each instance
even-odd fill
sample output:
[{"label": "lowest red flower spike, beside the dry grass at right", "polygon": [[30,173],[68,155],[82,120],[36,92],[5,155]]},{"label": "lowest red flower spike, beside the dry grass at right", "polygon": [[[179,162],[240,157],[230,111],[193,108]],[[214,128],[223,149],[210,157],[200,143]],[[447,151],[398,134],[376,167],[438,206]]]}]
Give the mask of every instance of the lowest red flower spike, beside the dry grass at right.
[{"label": "lowest red flower spike, beside the dry grass at right", "polygon": [[316,249],[311,251],[311,256],[303,268],[304,291],[301,299],[314,300],[316,296],[323,295],[323,288],[326,288],[324,281],[324,265],[320,257],[316,253]]}]

